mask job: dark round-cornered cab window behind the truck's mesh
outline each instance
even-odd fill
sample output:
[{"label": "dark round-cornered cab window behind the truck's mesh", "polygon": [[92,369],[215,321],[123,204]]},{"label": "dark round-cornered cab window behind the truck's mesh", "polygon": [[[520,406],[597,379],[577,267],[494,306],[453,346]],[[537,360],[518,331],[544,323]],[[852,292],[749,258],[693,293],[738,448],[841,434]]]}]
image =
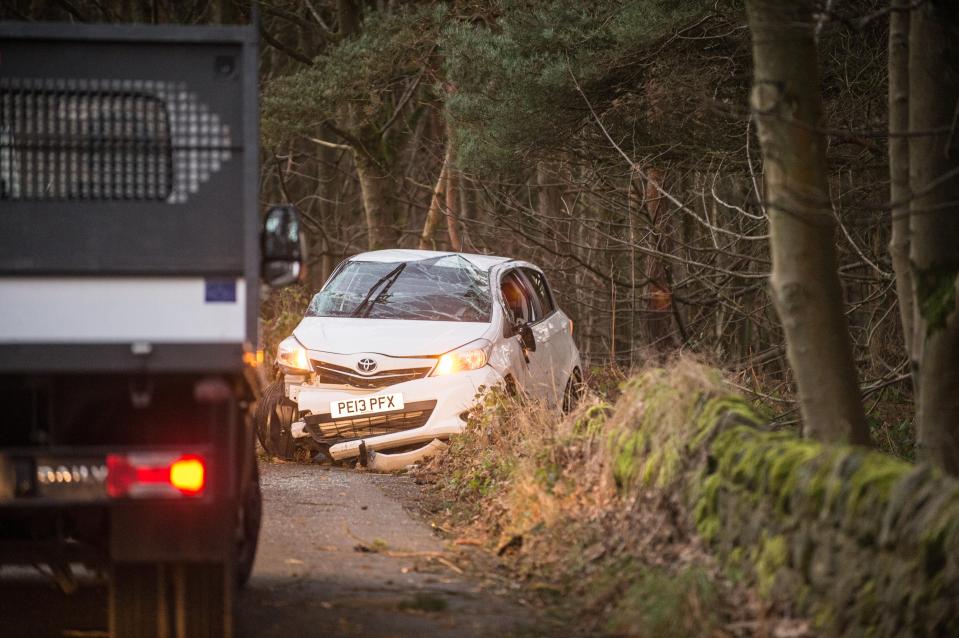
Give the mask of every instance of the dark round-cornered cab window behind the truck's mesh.
[{"label": "dark round-cornered cab window behind the truck's mesh", "polygon": [[0,87],[0,198],[165,200],[172,189],[163,101]]}]

